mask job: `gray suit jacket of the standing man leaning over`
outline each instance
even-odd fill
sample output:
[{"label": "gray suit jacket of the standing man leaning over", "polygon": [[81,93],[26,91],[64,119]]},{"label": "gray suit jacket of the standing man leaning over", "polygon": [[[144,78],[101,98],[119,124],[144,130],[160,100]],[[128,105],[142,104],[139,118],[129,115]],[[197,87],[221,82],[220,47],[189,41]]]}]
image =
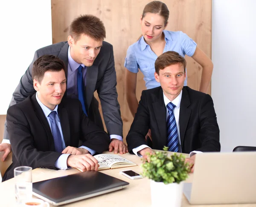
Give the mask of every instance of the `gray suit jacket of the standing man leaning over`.
[{"label": "gray suit jacket of the standing man leaning over", "polygon": [[[26,97],[35,93],[32,80],[32,67],[35,60],[44,54],[51,54],[63,60],[67,68],[68,47],[69,45],[67,42],[60,42],[35,51],[34,59],[25,74],[21,77],[20,82],[12,95],[12,101],[9,106],[23,101]],[[68,78],[67,70],[66,77]],[[99,103],[93,96],[94,91],[97,91],[108,133],[122,136],[122,119],[120,115],[120,106],[117,101],[116,71],[113,46],[111,44],[103,41],[102,48],[93,62],[93,65],[87,67],[86,82],[87,85],[84,87],[84,91],[86,94],[85,107],[88,112],[88,117],[95,122],[96,125],[103,128],[102,119],[99,113]],[[9,139],[9,135],[6,131],[6,123],[3,139]]]}]

